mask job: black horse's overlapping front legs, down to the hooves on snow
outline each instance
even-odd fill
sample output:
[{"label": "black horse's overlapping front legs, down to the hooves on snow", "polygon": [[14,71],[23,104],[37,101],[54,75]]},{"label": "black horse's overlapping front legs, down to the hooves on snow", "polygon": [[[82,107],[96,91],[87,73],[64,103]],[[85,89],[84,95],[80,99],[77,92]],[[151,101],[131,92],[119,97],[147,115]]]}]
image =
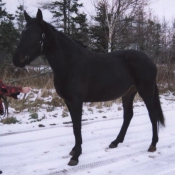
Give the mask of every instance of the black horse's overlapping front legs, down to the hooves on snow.
[{"label": "black horse's overlapping front legs, down to the hooves on snow", "polygon": [[66,105],[69,109],[72,123],[73,123],[73,132],[75,136],[75,146],[73,147],[70,155],[72,158],[70,159],[68,165],[75,166],[78,164],[78,158],[82,153],[82,136],[81,136],[81,117],[82,117],[82,102],[76,100],[73,102],[66,102]]}]

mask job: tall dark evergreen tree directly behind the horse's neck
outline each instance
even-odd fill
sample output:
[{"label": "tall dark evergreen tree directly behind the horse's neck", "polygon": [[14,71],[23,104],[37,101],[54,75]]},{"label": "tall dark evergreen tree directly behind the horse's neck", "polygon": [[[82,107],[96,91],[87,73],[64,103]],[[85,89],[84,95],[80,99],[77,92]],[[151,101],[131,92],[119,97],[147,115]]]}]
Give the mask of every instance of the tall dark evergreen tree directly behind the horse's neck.
[{"label": "tall dark evergreen tree directly behind the horse's neck", "polygon": [[42,5],[42,8],[53,14],[53,23],[57,29],[84,42],[88,25],[86,14],[79,11],[81,7],[83,4],[78,3],[78,0],[59,0]]}]

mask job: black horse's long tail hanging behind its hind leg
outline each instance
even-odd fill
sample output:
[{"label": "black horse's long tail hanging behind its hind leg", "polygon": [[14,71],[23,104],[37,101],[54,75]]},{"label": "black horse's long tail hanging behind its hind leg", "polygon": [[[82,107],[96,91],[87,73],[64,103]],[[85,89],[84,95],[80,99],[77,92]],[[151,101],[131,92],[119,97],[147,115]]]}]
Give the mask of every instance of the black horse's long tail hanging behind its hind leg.
[{"label": "black horse's long tail hanging behind its hind leg", "polygon": [[164,118],[162,108],[160,105],[159,90],[157,88],[157,85],[155,85],[154,99],[155,99],[156,109],[158,111],[157,122],[158,122],[158,124],[160,123],[162,126],[165,126],[165,118]]}]

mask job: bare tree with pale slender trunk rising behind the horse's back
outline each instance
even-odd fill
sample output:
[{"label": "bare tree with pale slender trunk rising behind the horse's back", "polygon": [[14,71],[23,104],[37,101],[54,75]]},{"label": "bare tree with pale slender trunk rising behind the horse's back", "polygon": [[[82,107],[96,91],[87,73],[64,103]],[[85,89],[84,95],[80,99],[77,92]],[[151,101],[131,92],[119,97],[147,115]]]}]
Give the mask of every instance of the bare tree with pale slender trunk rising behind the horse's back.
[{"label": "bare tree with pale slender trunk rising behind the horse's back", "polygon": [[[125,18],[132,18],[138,7],[148,5],[149,0],[93,0],[93,3],[95,7],[97,7],[99,3],[103,3],[105,5],[106,23],[109,29],[108,52],[111,52],[116,23],[121,22]],[[115,35],[120,34],[124,28],[123,24],[119,27],[119,30],[115,33]]]}]

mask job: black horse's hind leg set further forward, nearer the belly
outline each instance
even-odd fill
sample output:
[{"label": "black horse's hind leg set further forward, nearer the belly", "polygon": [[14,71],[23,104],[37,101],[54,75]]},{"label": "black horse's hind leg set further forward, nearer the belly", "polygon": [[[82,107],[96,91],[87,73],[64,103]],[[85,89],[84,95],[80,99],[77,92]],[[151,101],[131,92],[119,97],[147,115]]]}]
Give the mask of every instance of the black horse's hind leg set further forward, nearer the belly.
[{"label": "black horse's hind leg set further forward, nearer the belly", "polygon": [[133,116],[133,99],[135,94],[137,93],[135,87],[133,86],[123,97],[122,97],[122,102],[123,102],[123,125],[120,130],[119,135],[117,138],[109,145],[110,148],[115,148],[119,143],[122,143],[126,134],[126,131],[128,129],[128,126],[130,124],[130,121]]}]

